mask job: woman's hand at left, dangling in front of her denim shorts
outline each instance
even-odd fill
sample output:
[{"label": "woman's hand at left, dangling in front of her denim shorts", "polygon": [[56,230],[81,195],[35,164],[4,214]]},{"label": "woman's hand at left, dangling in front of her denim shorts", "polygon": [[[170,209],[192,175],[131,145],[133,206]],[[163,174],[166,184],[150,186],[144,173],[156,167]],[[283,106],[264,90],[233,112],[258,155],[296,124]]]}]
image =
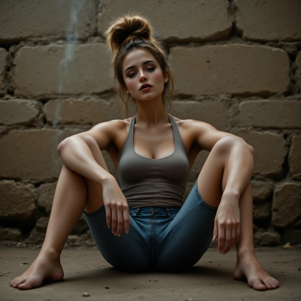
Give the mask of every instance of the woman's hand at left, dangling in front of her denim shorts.
[{"label": "woman's hand at left, dangling in front of her denim shorts", "polygon": [[124,223],[124,232],[127,234],[130,223],[129,205],[114,177],[107,178],[102,182],[102,196],[106,209],[107,226],[110,228],[112,219],[112,233],[120,236]]}]

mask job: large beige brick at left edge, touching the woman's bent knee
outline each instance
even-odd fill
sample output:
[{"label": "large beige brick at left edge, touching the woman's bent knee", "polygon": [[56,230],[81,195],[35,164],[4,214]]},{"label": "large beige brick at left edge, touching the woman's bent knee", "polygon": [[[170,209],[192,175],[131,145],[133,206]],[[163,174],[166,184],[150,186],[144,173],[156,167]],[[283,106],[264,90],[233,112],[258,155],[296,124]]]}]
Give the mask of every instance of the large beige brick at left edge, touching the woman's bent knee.
[{"label": "large beige brick at left edge, touching the woman's bent knee", "polygon": [[0,175],[46,180],[58,177],[63,163],[57,146],[79,129],[11,130],[0,139]]}]

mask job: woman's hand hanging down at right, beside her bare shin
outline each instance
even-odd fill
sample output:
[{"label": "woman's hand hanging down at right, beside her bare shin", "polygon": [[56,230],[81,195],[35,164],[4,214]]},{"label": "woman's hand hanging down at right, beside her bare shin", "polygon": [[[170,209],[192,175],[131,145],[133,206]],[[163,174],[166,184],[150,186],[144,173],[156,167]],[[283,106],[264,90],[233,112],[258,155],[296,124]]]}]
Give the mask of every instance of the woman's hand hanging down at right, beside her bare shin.
[{"label": "woman's hand hanging down at right, beside her bare shin", "polygon": [[218,251],[223,254],[232,249],[240,239],[239,197],[223,194],[214,219],[213,240],[219,237]]}]

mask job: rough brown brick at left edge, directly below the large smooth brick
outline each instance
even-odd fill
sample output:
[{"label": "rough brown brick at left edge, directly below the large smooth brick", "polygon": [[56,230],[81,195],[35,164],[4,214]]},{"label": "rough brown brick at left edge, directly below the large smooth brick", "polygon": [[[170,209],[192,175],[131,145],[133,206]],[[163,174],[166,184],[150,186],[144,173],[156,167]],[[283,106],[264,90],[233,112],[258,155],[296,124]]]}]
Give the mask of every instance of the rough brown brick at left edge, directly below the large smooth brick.
[{"label": "rough brown brick at left edge, directly below the large smooth brick", "polygon": [[35,189],[32,184],[0,181],[1,218],[20,222],[33,218],[35,211]]}]

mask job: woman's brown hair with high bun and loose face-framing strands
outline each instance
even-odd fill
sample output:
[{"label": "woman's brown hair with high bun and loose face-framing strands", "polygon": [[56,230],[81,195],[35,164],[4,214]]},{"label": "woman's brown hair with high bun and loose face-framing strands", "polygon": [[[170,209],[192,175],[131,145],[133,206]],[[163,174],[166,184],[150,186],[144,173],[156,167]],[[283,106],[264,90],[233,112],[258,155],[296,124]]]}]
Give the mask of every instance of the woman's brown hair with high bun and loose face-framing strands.
[{"label": "woman's brown hair with high bun and loose face-framing strands", "polygon": [[[135,13],[128,13],[123,17],[119,17],[116,20],[110,22],[109,28],[102,34],[102,37],[107,40],[107,45],[112,51],[113,57],[111,60],[114,80],[118,80],[119,88],[115,88],[115,92],[119,90],[119,97],[122,101],[123,112],[126,111],[126,118],[128,118],[128,102],[129,99],[133,99],[131,95],[125,93],[123,86],[125,82],[123,80],[121,64],[126,54],[133,48],[147,49],[153,54],[160,64],[163,71],[167,71],[169,79],[167,83],[164,83],[164,89],[162,93],[163,104],[169,101],[169,110],[171,108],[171,98],[173,95],[173,74],[171,68],[167,63],[168,54],[164,50],[163,44],[157,39],[151,37],[152,29],[149,21]],[[171,88],[169,87],[171,86]],[[167,90],[169,95],[167,96]],[[126,101],[124,96],[127,95]]]}]

